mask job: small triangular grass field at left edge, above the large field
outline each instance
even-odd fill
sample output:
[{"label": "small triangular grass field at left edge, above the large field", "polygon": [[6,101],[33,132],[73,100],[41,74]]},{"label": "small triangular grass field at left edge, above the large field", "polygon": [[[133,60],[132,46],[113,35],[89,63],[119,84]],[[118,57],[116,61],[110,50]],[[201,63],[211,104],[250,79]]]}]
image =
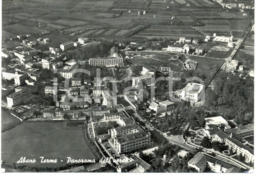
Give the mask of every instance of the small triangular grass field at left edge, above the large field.
[{"label": "small triangular grass field at left edge, above the large field", "polygon": [[18,123],[21,123],[19,119],[12,116],[9,112],[1,111],[1,130],[10,128]]}]

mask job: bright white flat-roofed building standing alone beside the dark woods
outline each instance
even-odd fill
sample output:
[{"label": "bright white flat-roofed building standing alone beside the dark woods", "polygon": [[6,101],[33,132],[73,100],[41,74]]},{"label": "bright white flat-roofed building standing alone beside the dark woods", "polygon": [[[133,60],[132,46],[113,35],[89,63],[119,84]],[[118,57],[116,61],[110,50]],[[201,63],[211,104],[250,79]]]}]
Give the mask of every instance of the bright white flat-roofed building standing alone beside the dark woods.
[{"label": "bright white flat-roofed building standing alone beside the dark woods", "polygon": [[198,83],[188,83],[185,88],[182,89],[179,97],[184,100],[199,101],[202,100],[204,95],[204,85]]}]

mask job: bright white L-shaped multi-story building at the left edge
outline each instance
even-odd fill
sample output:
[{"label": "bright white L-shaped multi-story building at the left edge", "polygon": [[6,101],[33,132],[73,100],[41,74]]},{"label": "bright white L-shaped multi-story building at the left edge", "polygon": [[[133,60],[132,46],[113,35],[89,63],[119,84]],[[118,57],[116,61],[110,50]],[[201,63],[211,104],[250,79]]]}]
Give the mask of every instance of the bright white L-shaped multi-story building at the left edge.
[{"label": "bright white L-shaped multi-story building at the left edge", "polygon": [[22,85],[25,83],[25,80],[28,78],[27,73],[15,72],[15,71],[4,71],[2,72],[3,78],[7,80],[14,79],[14,83],[17,85]]}]

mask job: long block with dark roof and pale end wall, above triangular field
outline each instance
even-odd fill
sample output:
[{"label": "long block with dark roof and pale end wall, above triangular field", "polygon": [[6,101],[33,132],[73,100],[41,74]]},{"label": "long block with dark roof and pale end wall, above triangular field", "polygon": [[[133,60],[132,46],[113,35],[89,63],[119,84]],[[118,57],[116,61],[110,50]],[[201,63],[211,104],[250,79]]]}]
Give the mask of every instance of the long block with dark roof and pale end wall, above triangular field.
[{"label": "long block with dark roof and pale end wall, above triangular field", "polygon": [[7,105],[9,107],[17,106],[20,103],[24,102],[24,100],[27,99],[30,94],[31,94],[30,90],[26,88],[18,92],[14,92],[13,94],[8,95],[6,97]]}]

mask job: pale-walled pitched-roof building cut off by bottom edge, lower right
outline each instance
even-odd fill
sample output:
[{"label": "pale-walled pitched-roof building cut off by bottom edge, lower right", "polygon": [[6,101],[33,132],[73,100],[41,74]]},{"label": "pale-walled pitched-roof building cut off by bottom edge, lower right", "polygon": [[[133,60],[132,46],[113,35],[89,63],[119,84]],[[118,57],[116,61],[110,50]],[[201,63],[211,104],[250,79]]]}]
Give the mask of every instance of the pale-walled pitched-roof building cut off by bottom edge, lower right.
[{"label": "pale-walled pitched-roof building cut off by bottom edge, lower right", "polygon": [[202,173],[205,168],[209,168],[216,173],[239,173],[241,168],[226,164],[217,159],[204,155],[198,152],[189,162],[188,166],[195,168],[199,173]]}]

